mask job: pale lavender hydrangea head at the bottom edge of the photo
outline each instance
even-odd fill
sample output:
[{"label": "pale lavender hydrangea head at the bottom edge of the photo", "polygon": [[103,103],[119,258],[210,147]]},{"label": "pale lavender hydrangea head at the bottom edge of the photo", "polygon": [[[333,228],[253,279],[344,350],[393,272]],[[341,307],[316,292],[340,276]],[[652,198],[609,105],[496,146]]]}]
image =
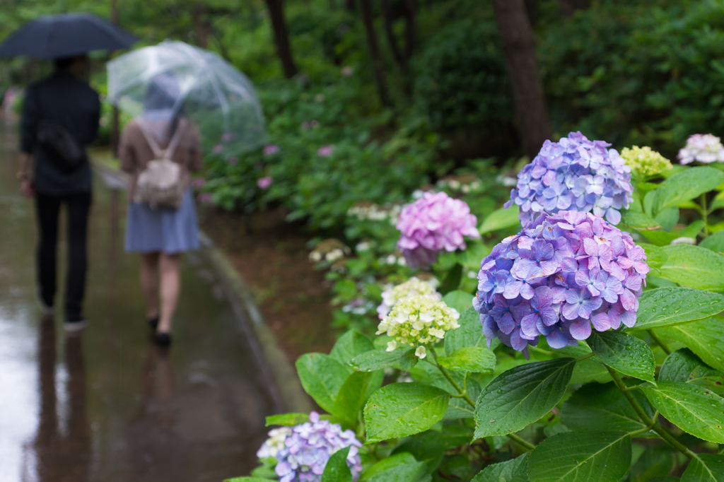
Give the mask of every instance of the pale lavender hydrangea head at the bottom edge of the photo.
[{"label": "pale lavender hydrangea head at the bottom edge of the photo", "polygon": [[319,413],[309,414],[309,421],[292,428],[292,434],[284,441],[285,448],[277,452],[279,482],[319,482],[329,457],[334,452],[350,447],[347,465],[352,480],[359,478],[362,461],[358,447],[360,441],[351,430],[342,431],[339,423],[319,420]]}]

